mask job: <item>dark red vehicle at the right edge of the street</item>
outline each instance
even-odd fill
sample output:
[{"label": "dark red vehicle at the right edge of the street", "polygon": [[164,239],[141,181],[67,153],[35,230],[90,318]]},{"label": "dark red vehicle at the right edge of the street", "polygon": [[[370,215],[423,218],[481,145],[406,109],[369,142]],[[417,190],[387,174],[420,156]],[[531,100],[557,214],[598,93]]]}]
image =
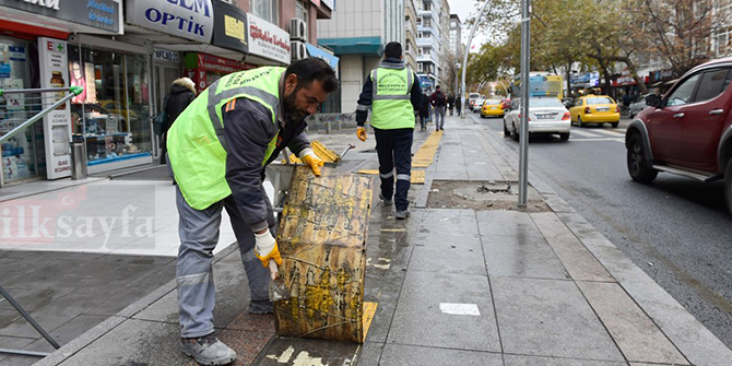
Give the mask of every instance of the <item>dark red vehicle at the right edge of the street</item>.
[{"label": "dark red vehicle at the right edge of the street", "polygon": [[628,173],[650,184],[659,172],[700,181],[724,179],[732,214],[732,58],[689,70],[664,95],[646,96],[648,107],[625,134]]}]

